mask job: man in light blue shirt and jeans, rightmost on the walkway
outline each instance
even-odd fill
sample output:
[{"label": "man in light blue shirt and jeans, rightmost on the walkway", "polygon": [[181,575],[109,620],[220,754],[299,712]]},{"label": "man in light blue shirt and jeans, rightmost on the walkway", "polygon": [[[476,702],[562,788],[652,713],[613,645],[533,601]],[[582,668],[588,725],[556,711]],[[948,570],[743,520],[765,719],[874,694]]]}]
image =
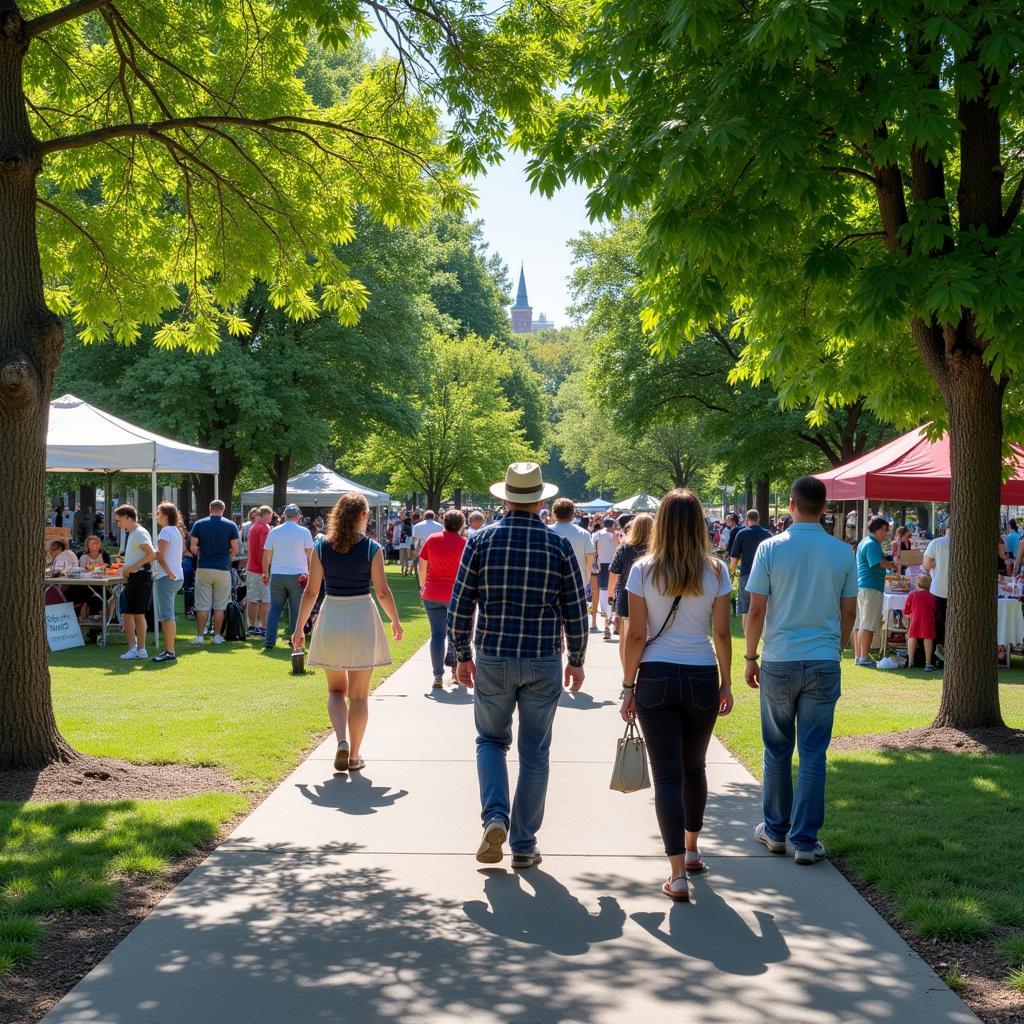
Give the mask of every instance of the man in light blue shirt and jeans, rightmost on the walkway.
[{"label": "man in light blue shirt and jeans, rightmost on the walkway", "polygon": [[[825,856],[818,830],[825,816],[825,752],[840,696],[840,659],[857,611],[857,569],[847,544],[819,518],[825,485],[802,476],[790,492],[793,525],[765,541],[746,581],[746,685],[761,689],[764,821],[754,836],[798,864]],[[758,642],[764,633],[764,664]],[[800,772],[793,790],[793,751]]]}]

